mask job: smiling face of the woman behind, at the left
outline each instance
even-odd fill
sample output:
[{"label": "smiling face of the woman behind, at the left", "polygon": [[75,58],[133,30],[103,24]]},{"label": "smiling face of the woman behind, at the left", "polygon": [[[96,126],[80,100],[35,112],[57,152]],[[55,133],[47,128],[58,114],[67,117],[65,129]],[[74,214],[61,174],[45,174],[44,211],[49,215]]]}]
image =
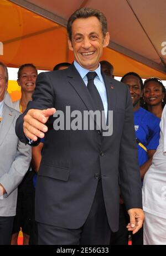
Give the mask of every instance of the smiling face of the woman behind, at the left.
[{"label": "smiling face of the woman behind, at the left", "polygon": [[33,93],[37,76],[37,72],[33,67],[27,66],[22,69],[17,82],[23,92]]}]

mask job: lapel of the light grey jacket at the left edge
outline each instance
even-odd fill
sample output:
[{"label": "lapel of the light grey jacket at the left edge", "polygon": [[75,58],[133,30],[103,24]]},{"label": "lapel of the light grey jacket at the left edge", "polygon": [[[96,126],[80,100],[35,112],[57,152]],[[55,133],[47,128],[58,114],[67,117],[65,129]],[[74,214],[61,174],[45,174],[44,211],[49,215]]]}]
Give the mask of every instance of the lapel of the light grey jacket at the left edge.
[{"label": "lapel of the light grey jacket at the left edge", "polygon": [[11,127],[11,124],[14,120],[14,113],[12,109],[8,108],[6,104],[3,106],[3,115],[2,115],[2,121],[0,124],[0,145],[2,144],[3,140],[5,139],[9,128]]}]

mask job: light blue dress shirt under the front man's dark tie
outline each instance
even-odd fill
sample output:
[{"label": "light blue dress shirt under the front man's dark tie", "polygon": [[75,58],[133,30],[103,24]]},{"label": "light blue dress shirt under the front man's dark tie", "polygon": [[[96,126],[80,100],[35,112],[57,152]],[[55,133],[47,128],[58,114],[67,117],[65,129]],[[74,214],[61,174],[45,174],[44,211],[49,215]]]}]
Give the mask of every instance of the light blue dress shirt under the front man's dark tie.
[{"label": "light blue dress shirt under the front man's dark tie", "polygon": [[[82,68],[80,66],[79,63],[77,63],[76,61],[74,61],[74,66],[77,69],[77,72],[79,72],[81,78],[84,80],[84,83],[87,86],[87,76],[86,74],[89,71],[88,69]],[[97,69],[95,69],[93,72],[97,73],[97,76],[94,79],[94,84],[97,88],[98,93],[100,94],[100,97],[102,99],[102,104],[103,104],[103,108],[105,110],[105,116],[107,117],[107,111],[108,111],[108,102],[107,102],[107,92],[106,92],[106,87],[105,87],[105,82],[103,81],[103,78],[101,76],[101,67],[100,67],[100,63]]]}]

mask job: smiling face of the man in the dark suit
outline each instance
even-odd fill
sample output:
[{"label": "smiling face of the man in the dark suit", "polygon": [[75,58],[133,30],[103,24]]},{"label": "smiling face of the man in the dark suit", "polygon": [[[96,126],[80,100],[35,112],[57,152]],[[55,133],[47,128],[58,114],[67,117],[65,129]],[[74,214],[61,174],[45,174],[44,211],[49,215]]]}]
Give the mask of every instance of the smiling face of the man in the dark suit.
[{"label": "smiling face of the man in the dark suit", "polygon": [[101,23],[94,16],[75,19],[72,23],[72,39],[69,49],[81,67],[94,71],[98,67],[103,47],[109,43],[109,33],[103,37]]}]

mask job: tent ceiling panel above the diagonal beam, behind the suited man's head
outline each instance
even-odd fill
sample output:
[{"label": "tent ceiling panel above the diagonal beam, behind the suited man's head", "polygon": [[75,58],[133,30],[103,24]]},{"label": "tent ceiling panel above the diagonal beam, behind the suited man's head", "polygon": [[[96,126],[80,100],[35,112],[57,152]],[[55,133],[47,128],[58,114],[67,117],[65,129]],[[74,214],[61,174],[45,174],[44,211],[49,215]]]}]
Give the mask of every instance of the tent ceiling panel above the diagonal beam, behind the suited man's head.
[{"label": "tent ceiling panel above the diagonal beam, behind the suited man's head", "polygon": [[166,73],[165,0],[12,0],[42,16],[66,26],[80,7],[100,9],[108,21],[109,47]]}]

